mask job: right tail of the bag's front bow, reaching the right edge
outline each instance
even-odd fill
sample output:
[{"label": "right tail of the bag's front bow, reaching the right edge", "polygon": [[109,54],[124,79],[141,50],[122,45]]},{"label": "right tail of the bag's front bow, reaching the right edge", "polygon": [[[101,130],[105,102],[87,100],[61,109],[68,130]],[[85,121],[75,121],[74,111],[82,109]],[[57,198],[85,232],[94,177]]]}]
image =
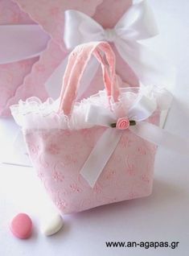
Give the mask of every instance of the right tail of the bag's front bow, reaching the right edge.
[{"label": "right tail of the bag's front bow, reaching the right edge", "polygon": [[189,141],[149,122],[139,122],[137,126],[129,126],[129,130],[157,146],[171,149],[183,155],[189,155]]}]

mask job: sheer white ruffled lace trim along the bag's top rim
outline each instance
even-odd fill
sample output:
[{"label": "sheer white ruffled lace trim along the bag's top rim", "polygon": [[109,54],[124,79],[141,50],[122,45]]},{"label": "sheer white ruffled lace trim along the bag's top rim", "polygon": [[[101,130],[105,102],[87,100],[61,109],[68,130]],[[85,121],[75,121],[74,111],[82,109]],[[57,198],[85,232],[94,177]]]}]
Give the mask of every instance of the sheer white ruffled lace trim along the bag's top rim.
[{"label": "sheer white ruffled lace trim along the bag's top rim", "polygon": [[[171,103],[171,95],[165,89],[159,89],[154,86],[142,88],[121,89],[121,97],[117,103],[112,101],[113,114],[119,118],[118,109],[120,106],[127,114],[129,108],[134,105],[137,97],[145,95],[157,102],[158,109],[168,109]],[[169,96],[170,101],[167,101]],[[165,101],[166,99],[166,101]],[[27,101],[19,101],[18,105],[11,105],[10,110],[18,126],[26,129],[69,129],[79,130],[92,127],[85,122],[85,114],[89,105],[98,105],[102,108],[109,108],[108,98],[105,90],[88,97],[80,102],[75,102],[72,109],[72,115],[68,118],[64,114],[58,114],[60,99],[53,101],[48,98],[42,102],[38,97],[30,97]]]}]

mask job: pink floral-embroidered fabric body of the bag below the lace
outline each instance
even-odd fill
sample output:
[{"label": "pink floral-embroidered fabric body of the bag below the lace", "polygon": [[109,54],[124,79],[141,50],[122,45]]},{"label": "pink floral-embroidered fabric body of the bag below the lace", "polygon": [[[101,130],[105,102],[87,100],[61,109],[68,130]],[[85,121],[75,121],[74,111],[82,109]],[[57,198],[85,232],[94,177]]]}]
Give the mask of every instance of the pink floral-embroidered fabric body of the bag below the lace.
[{"label": "pink floral-embroidered fabric body of the bag below the lace", "polygon": [[[32,145],[29,151],[39,178],[62,213],[76,213],[150,194],[156,151],[153,144],[132,133],[123,133],[94,188],[80,175],[80,168],[103,132],[104,128],[27,131],[26,140]],[[92,139],[86,144],[87,134]]]}]

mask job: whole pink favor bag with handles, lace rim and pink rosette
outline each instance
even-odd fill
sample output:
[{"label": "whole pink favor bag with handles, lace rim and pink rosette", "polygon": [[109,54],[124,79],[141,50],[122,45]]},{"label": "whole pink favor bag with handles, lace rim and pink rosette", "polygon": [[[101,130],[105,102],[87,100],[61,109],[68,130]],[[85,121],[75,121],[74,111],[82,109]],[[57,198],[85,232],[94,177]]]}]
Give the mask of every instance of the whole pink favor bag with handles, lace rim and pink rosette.
[{"label": "whole pink favor bag with handles, lace rim and pink rosette", "polygon": [[[92,55],[101,63],[105,90],[75,102]],[[32,97],[11,106],[39,178],[61,213],[150,195],[157,147],[138,131],[158,125],[161,96],[152,86],[119,89],[112,48],[95,42],[70,54],[59,101]]]}]

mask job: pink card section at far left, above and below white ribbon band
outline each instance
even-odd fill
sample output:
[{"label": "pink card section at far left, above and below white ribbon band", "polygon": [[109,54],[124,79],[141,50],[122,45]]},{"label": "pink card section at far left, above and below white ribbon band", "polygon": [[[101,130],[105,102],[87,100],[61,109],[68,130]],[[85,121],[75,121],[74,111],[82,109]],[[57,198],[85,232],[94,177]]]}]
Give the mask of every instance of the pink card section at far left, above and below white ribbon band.
[{"label": "pink card section at far left, above and below white ribbon band", "polygon": [[[6,24],[34,23],[34,21],[29,17],[27,13],[24,13],[22,10],[20,10],[18,5],[14,2],[11,2],[10,0],[2,0],[0,2],[0,10],[0,26]],[[38,59],[38,57],[35,57],[31,60],[22,60],[10,64],[0,64],[0,115],[4,112],[5,109],[7,109],[7,102],[11,97],[14,97],[16,89],[23,84],[24,77],[31,72],[32,65]]]}]

